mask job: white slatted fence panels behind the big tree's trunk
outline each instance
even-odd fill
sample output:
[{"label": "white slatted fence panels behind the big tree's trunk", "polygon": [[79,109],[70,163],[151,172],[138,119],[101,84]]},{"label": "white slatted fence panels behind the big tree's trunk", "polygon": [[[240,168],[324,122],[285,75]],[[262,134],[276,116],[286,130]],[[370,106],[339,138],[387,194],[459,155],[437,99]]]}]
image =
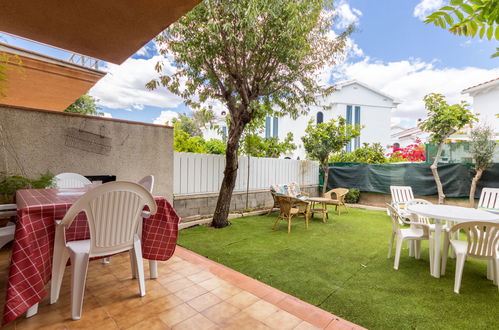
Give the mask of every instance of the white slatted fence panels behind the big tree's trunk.
[{"label": "white slatted fence panels behind the big tree's trunk", "polygon": [[[319,184],[318,162],[256,157],[250,157],[249,162],[249,190],[269,189],[276,183]],[[174,195],[218,193],[225,169],[224,155],[175,152],[173,163]],[[248,157],[241,156],[234,191],[246,191],[247,182]]]}]

